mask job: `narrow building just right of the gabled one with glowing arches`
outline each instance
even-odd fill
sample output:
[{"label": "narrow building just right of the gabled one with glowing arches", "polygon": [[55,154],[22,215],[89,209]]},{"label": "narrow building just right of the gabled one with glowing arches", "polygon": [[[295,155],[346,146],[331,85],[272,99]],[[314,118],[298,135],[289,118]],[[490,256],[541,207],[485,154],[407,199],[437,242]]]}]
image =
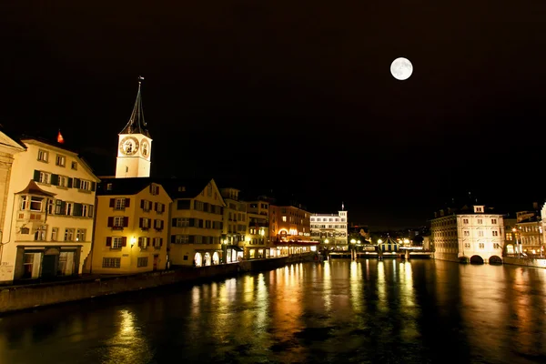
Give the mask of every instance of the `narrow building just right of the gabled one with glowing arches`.
[{"label": "narrow building just right of the gabled one with glowing arches", "polygon": [[226,247],[222,247],[222,253],[226,252],[227,263],[243,258],[245,236],[247,235],[247,204],[239,200],[239,193],[240,190],[237,188],[220,188],[220,194],[226,204],[222,230],[222,244]]}]

